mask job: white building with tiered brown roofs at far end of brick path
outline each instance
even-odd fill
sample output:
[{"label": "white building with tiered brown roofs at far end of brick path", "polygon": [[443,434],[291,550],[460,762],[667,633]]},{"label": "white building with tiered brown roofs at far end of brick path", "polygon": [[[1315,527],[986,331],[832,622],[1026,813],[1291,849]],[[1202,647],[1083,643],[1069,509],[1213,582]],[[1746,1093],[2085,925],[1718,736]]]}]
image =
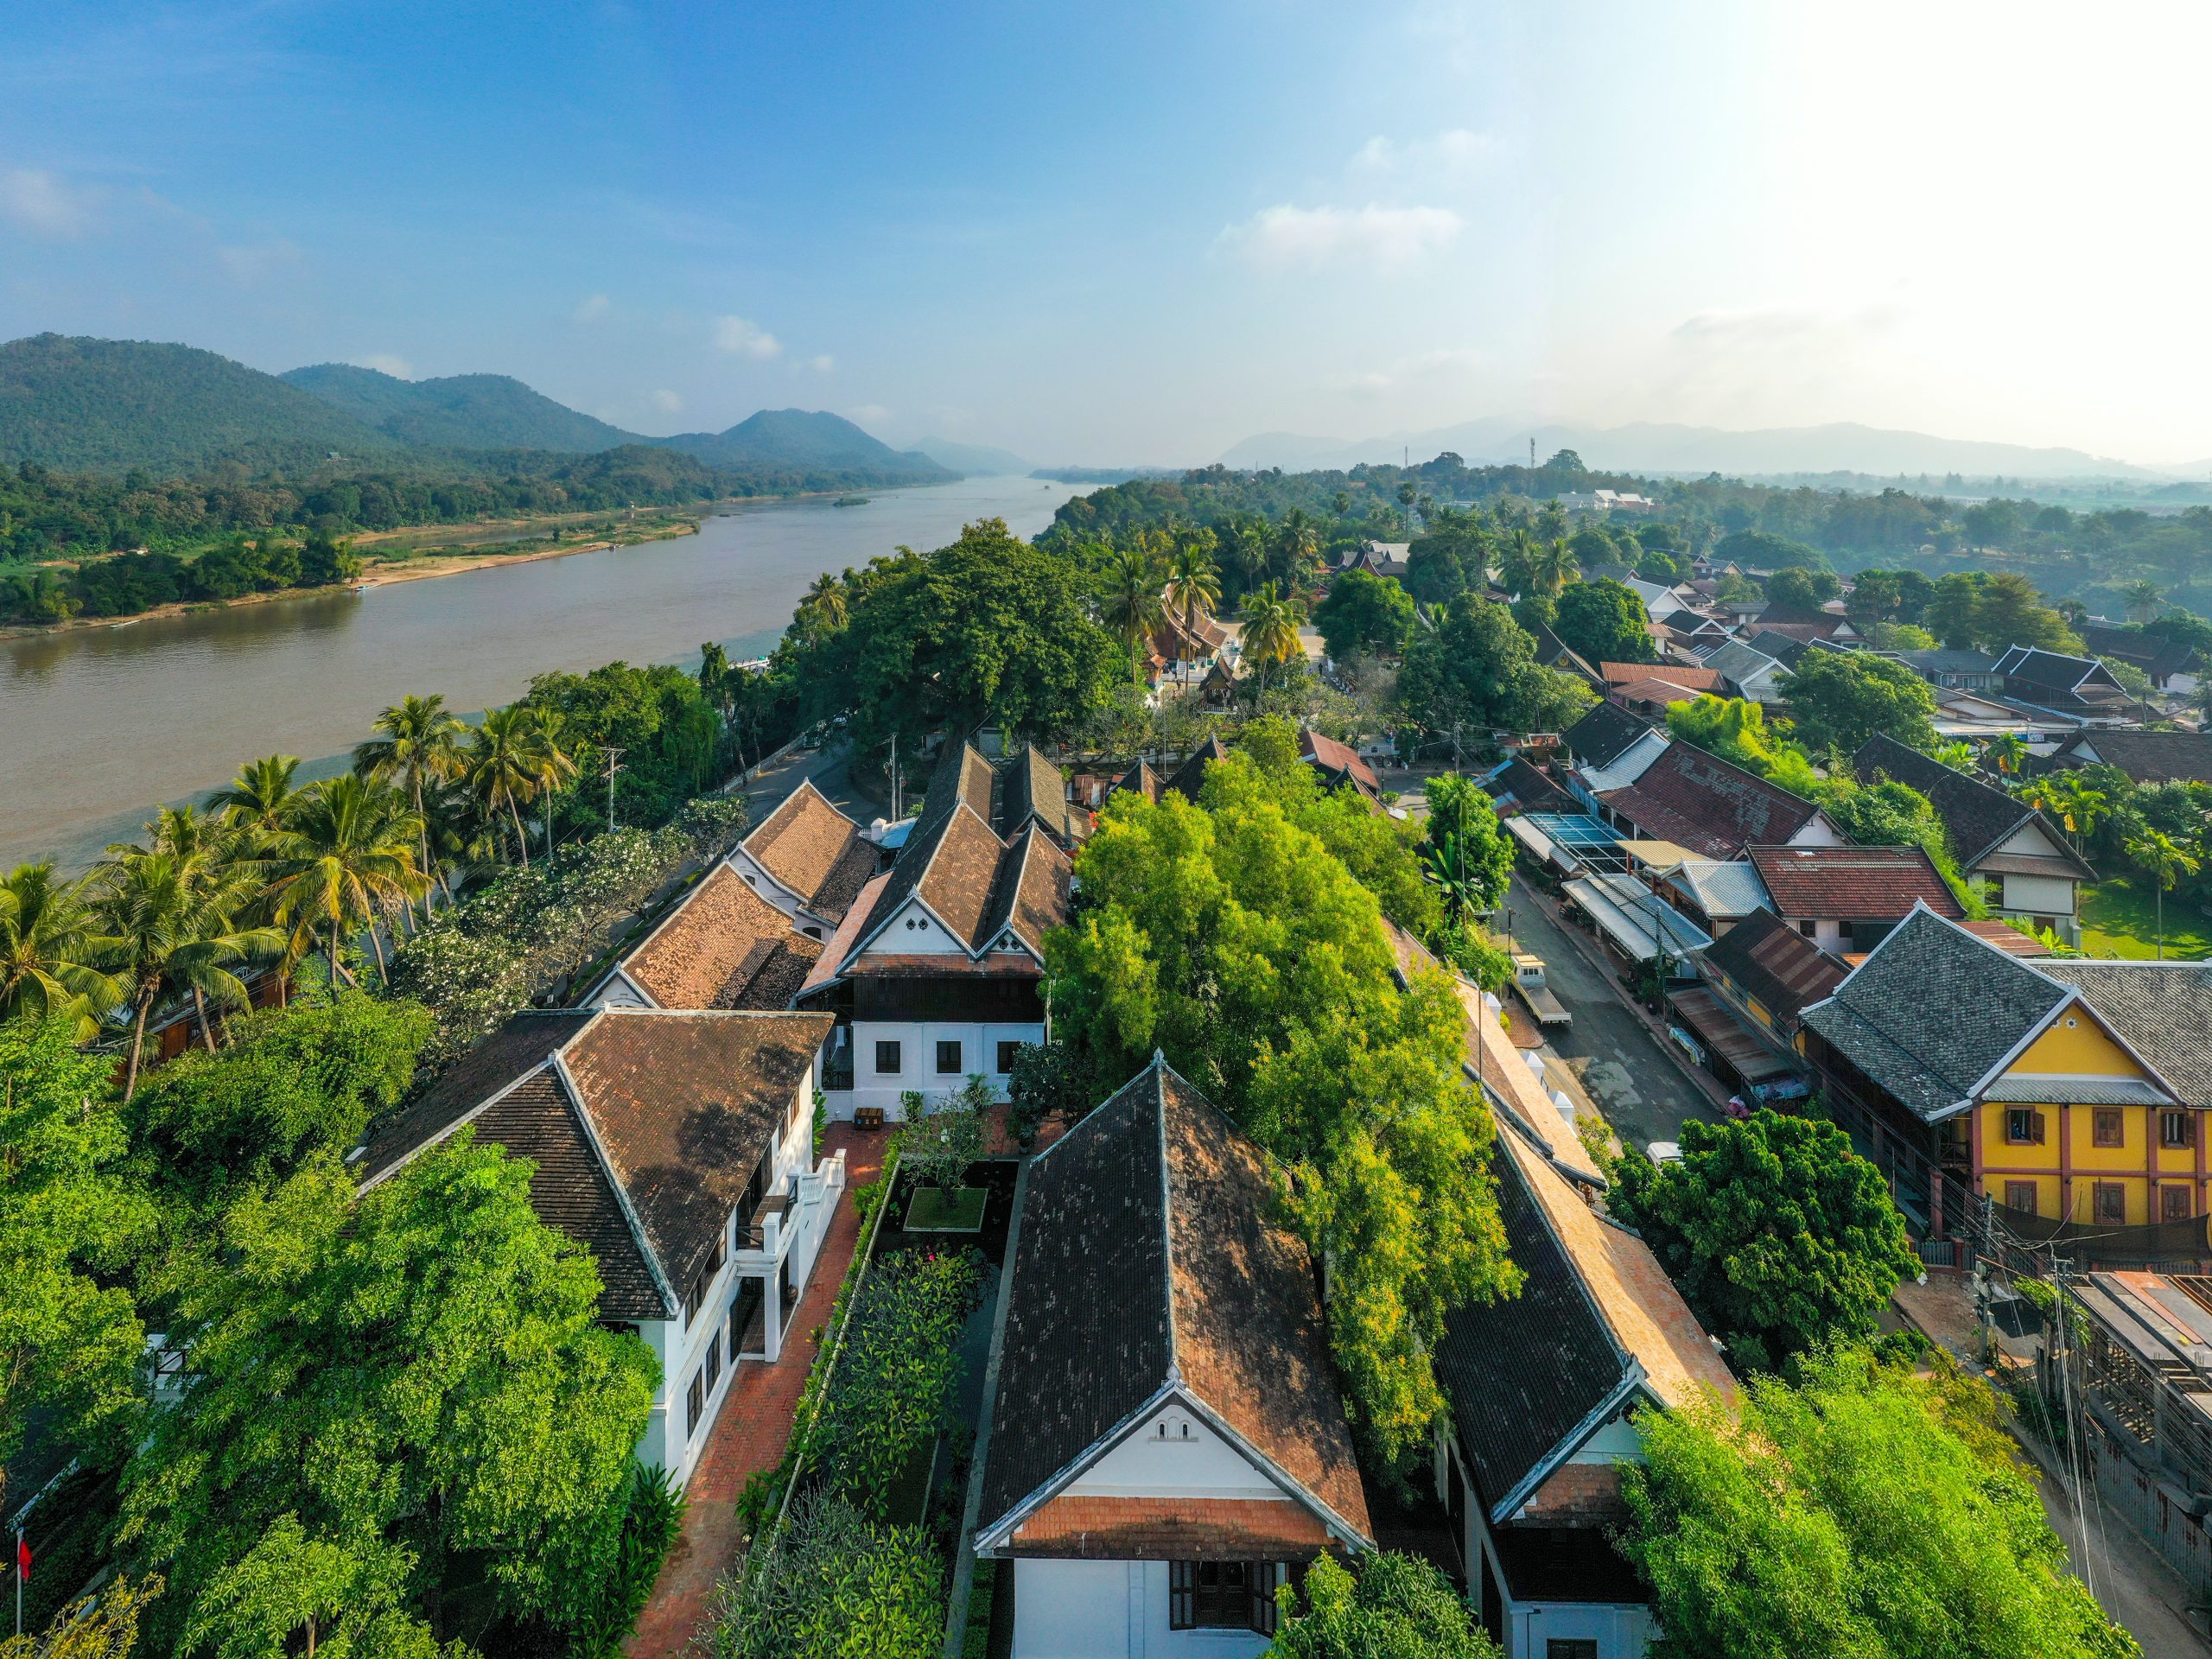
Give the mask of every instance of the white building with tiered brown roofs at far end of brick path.
[{"label": "white building with tiered brown roofs at far end of brick path", "polygon": [[1066,920],[1077,814],[1035,748],[991,765],[949,748],[889,874],[869,883],[814,964],[799,1006],[836,1013],[830,1115],[905,1115],[982,1075],[1002,1095],[1022,1044],[1044,1042],[1044,931]]}]

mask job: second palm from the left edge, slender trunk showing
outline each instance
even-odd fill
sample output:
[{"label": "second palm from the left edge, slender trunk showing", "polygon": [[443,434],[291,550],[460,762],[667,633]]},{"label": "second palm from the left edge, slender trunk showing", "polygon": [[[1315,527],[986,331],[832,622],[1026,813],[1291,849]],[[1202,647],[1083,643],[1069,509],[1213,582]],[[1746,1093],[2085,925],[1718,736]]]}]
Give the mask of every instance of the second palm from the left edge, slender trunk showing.
[{"label": "second palm from the left edge, slender trunk showing", "polygon": [[221,867],[168,852],[124,849],[97,878],[95,916],[108,962],[131,1009],[131,1064],[124,1102],[137,1093],[146,1015],[164,991],[190,991],[201,1009],[199,1033],[215,1048],[206,1004],[237,1009],[248,1002],[232,964],[283,951],[272,927],[239,927],[239,916],[261,891],[246,867]]}]

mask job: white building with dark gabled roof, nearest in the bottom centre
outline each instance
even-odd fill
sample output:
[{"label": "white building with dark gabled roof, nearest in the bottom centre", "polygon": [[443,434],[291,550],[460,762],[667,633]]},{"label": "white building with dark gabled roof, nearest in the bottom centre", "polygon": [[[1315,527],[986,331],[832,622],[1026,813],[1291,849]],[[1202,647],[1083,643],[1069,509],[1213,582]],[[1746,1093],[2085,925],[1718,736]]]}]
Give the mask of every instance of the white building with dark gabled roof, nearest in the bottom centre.
[{"label": "white building with dark gabled roof, nearest in the bottom centre", "polygon": [[1155,1057],[1029,1166],[975,1551],[1015,1659],[1250,1659],[1371,1548],[1312,1261],[1261,1150]]}]

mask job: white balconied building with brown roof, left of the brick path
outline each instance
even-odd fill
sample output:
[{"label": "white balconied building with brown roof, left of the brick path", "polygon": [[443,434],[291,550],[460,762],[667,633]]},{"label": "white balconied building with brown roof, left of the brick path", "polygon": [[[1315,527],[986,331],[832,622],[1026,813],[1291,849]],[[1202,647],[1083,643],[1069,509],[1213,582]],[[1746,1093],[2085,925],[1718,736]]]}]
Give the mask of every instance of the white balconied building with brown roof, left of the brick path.
[{"label": "white balconied building with brown roof, left of the brick path", "polygon": [[783,1363],[845,1190],[845,1155],[812,1155],[827,1033],[818,1013],[522,1013],[376,1130],[354,1175],[367,1190],[462,1128],[531,1159],[538,1214],[597,1256],[602,1323],[661,1363],[637,1458],[681,1486],[739,1365]]}]

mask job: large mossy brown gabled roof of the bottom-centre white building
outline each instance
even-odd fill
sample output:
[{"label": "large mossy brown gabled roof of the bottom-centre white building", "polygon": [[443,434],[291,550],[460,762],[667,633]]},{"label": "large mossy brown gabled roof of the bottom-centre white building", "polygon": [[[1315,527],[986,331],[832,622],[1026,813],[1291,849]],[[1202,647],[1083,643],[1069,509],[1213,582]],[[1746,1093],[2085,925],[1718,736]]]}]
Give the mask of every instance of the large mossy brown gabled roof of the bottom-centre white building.
[{"label": "large mossy brown gabled roof of the bottom-centre white building", "polygon": [[1312,1265],[1265,1157],[1155,1057],[1029,1166],[978,1535],[1020,1548],[1024,1517],[1166,1398],[1340,1542],[1369,1542]]}]

